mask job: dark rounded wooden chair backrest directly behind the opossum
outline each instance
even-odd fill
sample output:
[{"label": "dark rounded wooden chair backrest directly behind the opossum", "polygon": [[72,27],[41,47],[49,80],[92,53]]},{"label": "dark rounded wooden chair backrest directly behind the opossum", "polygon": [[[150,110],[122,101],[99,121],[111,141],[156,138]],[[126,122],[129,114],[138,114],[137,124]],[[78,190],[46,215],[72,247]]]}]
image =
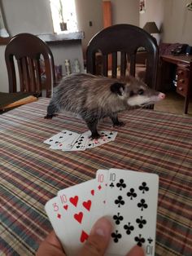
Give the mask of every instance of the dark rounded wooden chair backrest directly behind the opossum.
[{"label": "dark rounded wooden chair backrest directly behind the opossum", "polygon": [[86,51],[87,72],[97,74],[97,55],[99,53],[102,55],[102,74],[104,76],[108,76],[108,62],[111,58],[111,77],[117,77],[118,55],[120,55],[120,77],[126,75],[128,68],[129,74],[135,76],[137,50],[141,48],[145,48],[146,54],[145,82],[155,89],[159,60],[156,40],[145,30],[131,24],[112,25],[98,32],[90,40]]}]

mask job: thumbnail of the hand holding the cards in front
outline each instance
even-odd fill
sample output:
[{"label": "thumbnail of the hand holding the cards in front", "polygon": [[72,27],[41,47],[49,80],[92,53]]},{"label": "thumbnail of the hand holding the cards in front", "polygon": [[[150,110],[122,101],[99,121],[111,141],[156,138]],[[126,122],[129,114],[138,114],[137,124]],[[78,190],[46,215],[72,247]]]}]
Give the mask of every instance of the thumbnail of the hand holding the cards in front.
[{"label": "thumbnail of the hand holding the cards in front", "polygon": [[107,218],[99,218],[91,230],[91,234],[98,236],[108,237],[111,236],[111,223]]}]

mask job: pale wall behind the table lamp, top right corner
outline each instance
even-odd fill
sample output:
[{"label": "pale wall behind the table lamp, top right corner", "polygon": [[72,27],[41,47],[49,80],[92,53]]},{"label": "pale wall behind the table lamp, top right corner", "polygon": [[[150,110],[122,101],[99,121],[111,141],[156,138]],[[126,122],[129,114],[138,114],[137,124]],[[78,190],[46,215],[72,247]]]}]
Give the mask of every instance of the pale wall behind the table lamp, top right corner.
[{"label": "pale wall behind the table lamp, top right corner", "polygon": [[147,21],[155,21],[162,42],[183,42],[192,46],[192,11],[185,8],[189,0],[146,0],[146,12],[140,14],[141,28]]}]

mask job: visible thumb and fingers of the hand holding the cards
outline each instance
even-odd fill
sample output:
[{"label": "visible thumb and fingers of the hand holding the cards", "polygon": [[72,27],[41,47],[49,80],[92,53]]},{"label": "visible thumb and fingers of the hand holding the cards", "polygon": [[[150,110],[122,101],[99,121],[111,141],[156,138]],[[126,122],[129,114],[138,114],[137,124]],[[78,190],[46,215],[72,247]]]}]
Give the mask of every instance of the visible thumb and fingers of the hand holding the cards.
[{"label": "visible thumb and fingers of the hand holding the cards", "polygon": [[[78,256],[103,256],[111,238],[111,223],[107,218],[99,218],[92,227],[88,240]],[[67,256],[55,232],[50,232],[37,250],[36,256]],[[144,256],[141,247],[135,245],[126,256]]]}]

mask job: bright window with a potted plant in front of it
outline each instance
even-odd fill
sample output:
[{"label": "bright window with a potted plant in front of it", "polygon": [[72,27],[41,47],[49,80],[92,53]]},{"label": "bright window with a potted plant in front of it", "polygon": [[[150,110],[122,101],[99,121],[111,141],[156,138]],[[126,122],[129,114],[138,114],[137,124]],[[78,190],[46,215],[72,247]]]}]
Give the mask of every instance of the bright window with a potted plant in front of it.
[{"label": "bright window with a potted plant in front of it", "polygon": [[75,0],[50,0],[55,33],[76,32]]}]

